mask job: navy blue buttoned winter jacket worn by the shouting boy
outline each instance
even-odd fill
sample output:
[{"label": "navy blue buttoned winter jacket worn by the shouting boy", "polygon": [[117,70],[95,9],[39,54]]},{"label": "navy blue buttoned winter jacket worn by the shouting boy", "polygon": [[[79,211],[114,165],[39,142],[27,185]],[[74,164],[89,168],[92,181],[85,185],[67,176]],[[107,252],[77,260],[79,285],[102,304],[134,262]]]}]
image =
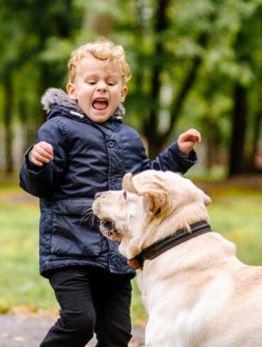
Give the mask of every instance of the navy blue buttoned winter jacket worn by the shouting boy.
[{"label": "navy blue buttoned winter jacket worn by the shouting boy", "polygon": [[45,276],[53,268],[83,265],[133,274],[118,253],[118,244],[98,230],[91,211],[94,195],[120,190],[127,172],[185,173],[197,160],[195,152],[186,157],[174,142],[151,161],[138,133],[119,117],[93,123],[69,106],[51,105],[38,131],[37,142],[52,144],[54,160],[35,166],[28,158],[30,148],[20,172],[21,187],[40,198],[40,273]]}]

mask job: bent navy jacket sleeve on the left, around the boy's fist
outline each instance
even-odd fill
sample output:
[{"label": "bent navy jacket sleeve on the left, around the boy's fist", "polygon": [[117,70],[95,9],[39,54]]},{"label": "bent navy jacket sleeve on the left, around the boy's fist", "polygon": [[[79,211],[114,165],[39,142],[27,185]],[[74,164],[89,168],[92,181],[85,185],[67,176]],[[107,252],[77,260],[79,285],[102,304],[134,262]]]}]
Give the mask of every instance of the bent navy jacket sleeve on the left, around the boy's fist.
[{"label": "bent navy jacket sleeve on the left, around the boy's fist", "polygon": [[66,147],[61,130],[50,121],[42,125],[37,142],[45,141],[54,148],[54,159],[44,166],[36,166],[29,159],[30,147],[24,154],[20,171],[20,186],[38,198],[50,198],[59,184],[67,163]]}]

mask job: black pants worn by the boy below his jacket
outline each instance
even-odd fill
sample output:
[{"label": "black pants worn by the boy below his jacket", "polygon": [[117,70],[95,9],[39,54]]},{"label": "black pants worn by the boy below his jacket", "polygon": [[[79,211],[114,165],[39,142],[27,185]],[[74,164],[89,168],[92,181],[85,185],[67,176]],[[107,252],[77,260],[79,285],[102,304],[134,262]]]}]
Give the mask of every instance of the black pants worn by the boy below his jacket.
[{"label": "black pants worn by the boy below his jacket", "polygon": [[127,347],[131,339],[128,275],[71,266],[50,271],[60,318],[40,347],[84,347],[96,332],[98,347]]}]

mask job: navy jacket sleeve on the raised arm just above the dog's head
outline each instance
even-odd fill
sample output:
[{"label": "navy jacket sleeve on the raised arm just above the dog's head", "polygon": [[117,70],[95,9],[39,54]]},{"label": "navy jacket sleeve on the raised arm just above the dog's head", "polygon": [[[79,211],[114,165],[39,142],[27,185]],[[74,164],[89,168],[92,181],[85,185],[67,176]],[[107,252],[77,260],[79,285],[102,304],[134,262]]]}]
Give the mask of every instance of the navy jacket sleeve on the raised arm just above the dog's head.
[{"label": "navy jacket sleeve on the raised arm just above the dog's head", "polygon": [[185,174],[193,164],[198,161],[198,157],[194,151],[186,156],[181,152],[177,142],[173,142],[167,147],[164,152],[161,152],[155,160],[147,158],[147,154],[144,151],[144,159],[142,160],[141,171],[154,169],[161,171],[173,171]]}]

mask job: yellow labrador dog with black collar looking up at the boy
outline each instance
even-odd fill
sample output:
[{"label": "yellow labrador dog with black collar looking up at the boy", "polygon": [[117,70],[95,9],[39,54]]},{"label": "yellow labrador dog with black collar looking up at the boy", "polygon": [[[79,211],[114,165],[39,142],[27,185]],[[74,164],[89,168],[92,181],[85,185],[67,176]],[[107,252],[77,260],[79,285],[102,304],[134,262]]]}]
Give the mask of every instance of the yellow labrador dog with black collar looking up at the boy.
[{"label": "yellow labrador dog with black collar looking up at the boy", "polygon": [[209,203],[169,171],[126,174],[123,190],[96,195],[101,231],[142,266],[147,347],[262,346],[262,267],[210,230]]}]

